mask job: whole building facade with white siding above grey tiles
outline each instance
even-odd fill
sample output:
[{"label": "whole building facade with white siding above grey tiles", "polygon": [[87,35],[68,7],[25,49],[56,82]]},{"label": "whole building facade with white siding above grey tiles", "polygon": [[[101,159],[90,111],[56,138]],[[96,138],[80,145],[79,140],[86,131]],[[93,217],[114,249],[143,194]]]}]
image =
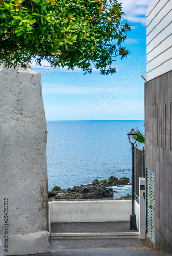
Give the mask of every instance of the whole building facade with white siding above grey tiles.
[{"label": "whole building facade with white siding above grey tiles", "polygon": [[147,10],[146,245],[172,253],[172,0]]}]

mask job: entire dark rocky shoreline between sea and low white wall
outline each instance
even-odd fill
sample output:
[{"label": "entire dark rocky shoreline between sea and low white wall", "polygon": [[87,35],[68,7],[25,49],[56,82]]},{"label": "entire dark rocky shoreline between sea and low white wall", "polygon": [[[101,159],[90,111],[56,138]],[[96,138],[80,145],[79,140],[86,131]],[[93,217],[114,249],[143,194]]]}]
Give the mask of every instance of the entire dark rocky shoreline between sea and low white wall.
[{"label": "entire dark rocky shoreline between sea and low white wall", "polygon": [[[102,199],[113,197],[114,192],[112,186],[129,185],[129,178],[116,178],[111,176],[108,180],[94,180],[91,184],[74,186],[73,188],[61,189],[55,186],[48,196],[51,199]],[[126,197],[130,198],[127,194]]]}]

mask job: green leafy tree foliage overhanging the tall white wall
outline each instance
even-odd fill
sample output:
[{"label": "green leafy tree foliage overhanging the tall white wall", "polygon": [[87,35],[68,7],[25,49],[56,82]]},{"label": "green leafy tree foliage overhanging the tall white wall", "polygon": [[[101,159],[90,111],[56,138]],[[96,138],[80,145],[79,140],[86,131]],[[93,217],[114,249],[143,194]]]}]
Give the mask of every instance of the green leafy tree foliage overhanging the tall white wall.
[{"label": "green leafy tree foliage overhanging the tall white wall", "polygon": [[0,62],[23,67],[34,58],[115,73],[112,61],[128,55],[123,15],[116,0],[0,0]]}]

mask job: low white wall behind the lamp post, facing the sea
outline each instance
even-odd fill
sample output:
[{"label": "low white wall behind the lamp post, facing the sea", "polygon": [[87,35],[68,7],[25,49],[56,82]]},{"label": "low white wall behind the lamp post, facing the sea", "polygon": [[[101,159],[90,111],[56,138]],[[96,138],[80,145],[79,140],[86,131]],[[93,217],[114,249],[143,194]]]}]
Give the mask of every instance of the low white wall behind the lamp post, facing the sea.
[{"label": "low white wall behind the lamp post, facing the sea", "polygon": [[131,200],[53,201],[49,209],[50,223],[130,221]]}]

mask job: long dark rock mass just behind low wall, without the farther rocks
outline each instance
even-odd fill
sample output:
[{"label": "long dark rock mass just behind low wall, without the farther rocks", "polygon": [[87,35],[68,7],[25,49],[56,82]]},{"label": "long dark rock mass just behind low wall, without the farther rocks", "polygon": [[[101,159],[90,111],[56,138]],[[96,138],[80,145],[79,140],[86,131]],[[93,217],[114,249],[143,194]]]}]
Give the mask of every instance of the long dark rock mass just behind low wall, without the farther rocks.
[{"label": "long dark rock mass just behind low wall, without the farther rocks", "polygon": [[106,188],[103,185],[81,185],[60,191],[54,199],[101,199],[109,197],[113,197],[112,188]]}]

